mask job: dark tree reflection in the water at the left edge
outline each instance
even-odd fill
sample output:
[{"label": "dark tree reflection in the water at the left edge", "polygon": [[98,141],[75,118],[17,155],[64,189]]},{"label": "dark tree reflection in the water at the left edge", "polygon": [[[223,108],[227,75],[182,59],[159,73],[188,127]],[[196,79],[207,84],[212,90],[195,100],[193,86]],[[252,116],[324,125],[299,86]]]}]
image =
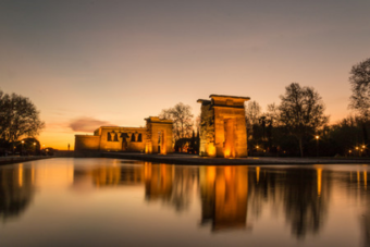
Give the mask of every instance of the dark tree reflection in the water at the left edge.
[{"label": "dark tree reflection in the water at the left edge", "polygon": [[0,218],[18,217],[34,196],[35,170],[23,164],[0,169]]}]

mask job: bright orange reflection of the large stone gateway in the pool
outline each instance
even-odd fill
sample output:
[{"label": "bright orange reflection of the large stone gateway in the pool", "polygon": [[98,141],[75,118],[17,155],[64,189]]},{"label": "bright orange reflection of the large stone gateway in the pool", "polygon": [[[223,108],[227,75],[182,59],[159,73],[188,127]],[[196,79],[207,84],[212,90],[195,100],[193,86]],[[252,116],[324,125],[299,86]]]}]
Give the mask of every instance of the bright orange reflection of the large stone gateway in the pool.
[{"label": "bright orange reflection of the large stone gateway in the pool", "polygon": [[245,229],[248,202],[247,166],[199,168],[201,223],[212,231]]}]

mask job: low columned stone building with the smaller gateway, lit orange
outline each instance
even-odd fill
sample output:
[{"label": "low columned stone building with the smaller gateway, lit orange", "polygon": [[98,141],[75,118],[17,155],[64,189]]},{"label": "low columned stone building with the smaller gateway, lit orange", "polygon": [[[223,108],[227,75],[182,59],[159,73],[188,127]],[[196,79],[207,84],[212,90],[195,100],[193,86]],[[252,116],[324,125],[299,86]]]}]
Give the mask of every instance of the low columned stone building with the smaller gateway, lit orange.
[{"label": "low columned stone building with the smaller gateway, lit orange", "polygon": [[75,135],[75,151],[173,152],[172,121],[146,119],[146,127],[101,126],[94,135]]}]

